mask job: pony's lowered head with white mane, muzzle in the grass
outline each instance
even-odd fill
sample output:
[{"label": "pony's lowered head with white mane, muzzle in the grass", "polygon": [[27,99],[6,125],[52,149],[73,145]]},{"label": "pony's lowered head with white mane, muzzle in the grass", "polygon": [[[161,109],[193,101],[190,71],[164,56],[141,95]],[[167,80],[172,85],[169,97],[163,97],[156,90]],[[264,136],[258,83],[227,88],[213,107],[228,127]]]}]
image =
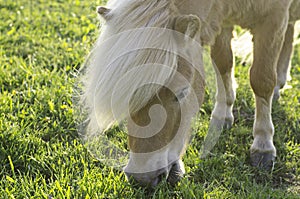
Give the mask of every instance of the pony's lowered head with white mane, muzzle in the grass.
[{"label": "pony's lowered head with white mane, muzzle in the grass", "polygon": [[204,94],[200,20],[169,0],[116,1],[87,62],[86,136],[127,120],[129,179],[155,186],[184,173],[181,156]]}]

